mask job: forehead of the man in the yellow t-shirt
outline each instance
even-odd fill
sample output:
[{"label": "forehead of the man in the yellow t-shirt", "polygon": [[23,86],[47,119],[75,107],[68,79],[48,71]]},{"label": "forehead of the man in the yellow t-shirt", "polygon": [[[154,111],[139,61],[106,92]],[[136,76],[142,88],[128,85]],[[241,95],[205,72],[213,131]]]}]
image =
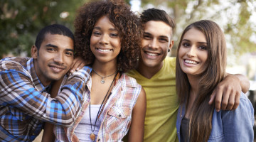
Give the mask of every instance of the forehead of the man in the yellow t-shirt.
[{"label": "forehead of the man in the yellow t-shirt", "polygon": [[144,25],[144,32],[154,36],[167,36],[171,38],[172,28],[163,21],[148,21]]}]

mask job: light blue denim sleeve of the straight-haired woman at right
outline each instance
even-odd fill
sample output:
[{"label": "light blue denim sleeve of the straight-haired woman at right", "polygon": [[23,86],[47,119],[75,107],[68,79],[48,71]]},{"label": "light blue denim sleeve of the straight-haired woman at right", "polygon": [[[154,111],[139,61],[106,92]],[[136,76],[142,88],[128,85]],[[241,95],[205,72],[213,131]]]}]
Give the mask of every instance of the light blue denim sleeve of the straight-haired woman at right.
[{"label": "light blue denim sleeve of the straight-haired woman at right", "polygon": [[223,111],[225,141],[253,141],[254,110],[249,99],[241,93],[240,104],[234,111]]}]

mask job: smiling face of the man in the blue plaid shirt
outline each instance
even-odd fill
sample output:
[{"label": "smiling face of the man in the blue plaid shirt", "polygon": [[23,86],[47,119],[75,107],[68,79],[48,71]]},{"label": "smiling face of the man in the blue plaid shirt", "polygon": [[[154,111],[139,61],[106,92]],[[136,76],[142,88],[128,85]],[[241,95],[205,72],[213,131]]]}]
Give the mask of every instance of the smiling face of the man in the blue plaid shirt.
[{"label": "smiling face of the man in the blue plaid shirt", "polygon": [[74,43],[65,35],[47,33],[41,47],[31,49],[36,75],[43,85],[53,80],[60,80],[73,63]]}]

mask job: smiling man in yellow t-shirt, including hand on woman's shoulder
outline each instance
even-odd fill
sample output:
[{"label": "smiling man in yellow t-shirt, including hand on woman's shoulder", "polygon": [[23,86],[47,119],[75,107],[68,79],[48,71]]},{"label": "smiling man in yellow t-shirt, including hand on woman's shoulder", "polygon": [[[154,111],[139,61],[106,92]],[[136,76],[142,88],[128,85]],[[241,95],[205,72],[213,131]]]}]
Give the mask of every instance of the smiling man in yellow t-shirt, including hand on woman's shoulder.
[{"label": "smiling man in yellow t-shirt, including hand on woman's shoulder", "polygon": [[[144,30],[142,56],[137,70],[127,74],[134,77],[146,92],[144,142],[176,142],[176,58],[166,57],[174,45],[172,35],[175,23],[165,11],[159,9],[147,9],[140,18]],[[220,109],[222,97],[225,100],[222,101],[221,109],[235,109],[239,104],[241,87],[243,92],[247,92],[250,84],[242,75],[228,75],[225,82],[220,82],[219,87],[222,89],[217,87],[216,110]],[[225,92],[228,87],[231,87],[231,92]],[[210,102],[213,102],[213,99]],[[124,141],[127,141],[127,137]]]}]

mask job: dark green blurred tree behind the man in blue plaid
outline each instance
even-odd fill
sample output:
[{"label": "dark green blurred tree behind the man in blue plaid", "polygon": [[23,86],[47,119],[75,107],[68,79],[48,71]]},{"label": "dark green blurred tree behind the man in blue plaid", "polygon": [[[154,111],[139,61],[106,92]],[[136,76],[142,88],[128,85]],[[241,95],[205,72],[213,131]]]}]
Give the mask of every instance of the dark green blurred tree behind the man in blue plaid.
[{"label": "dark green blurred tree behind the man in blue plaid", "polygon": [[0,0],[0,58],[4,54],[30,56],[38,31],[59,23],[73,31],[76,9],[86,0]]}]

